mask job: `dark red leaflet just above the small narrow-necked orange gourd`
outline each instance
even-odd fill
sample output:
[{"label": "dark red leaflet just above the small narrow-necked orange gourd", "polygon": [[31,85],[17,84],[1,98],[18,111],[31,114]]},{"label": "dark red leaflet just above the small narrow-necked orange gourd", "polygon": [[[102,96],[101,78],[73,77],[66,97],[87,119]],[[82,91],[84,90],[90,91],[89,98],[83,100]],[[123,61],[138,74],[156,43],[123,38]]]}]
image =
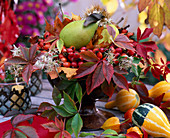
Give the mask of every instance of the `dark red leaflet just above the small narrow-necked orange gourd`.
[{"label": "dark red leaflet just above the small narrow-necked orange gourd", "polygon": [[113,81],[118,87],[129,90],[128,82],[122,74],[114,73]]}]

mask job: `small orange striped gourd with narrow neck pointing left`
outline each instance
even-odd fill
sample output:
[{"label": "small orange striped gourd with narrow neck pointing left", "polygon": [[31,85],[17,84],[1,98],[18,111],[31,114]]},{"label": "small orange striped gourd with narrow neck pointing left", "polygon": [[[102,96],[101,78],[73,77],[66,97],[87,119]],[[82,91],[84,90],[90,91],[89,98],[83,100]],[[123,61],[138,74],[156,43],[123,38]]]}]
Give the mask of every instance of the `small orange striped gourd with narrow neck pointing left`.
[{"label": "small orange striped gourd with narrow neck pointing left", "polygon": [[129,91],[122,89],[118,92],[115,101],[106,103],[105,108],[111,109],[117,107],[120,111],[126,112],[131,108],[136,108],[140,104],[140,98],[137,92],[133,89]]}]

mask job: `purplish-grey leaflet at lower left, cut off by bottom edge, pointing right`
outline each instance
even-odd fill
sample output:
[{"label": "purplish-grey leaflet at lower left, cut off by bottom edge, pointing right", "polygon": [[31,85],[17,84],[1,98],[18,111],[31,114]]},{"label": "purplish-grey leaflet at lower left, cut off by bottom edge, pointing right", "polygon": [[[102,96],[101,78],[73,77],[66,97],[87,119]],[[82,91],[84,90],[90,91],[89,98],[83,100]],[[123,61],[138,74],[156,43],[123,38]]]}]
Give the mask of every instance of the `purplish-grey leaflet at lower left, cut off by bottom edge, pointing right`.
[{"label": "purplish-grey leaflet at lower left, cut off by bottom edge, pointing right", "polygon": [[39,138],[36,130],[33,127],[30,127],[30,126],[17,126],[16,128],[18,128],[19,130],[24,132],[24,134],[26,134],[30,138],[33,138],[33,137],[34,138]]}]

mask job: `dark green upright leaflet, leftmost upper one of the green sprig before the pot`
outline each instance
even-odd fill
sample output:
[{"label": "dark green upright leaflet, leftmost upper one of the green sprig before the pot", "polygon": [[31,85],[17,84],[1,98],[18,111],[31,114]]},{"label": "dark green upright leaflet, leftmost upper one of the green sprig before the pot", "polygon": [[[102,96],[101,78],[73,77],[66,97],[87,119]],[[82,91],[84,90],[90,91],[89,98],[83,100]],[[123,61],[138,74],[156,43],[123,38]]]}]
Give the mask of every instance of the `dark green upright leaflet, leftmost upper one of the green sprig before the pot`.
[{"label": "dark green upright leaflet, leftmost upper one of the green sprig before the pot", "polygon": [[60,104],[62,96],[60,91],[55,86],[53,89],[52,98],[56,105]]}]

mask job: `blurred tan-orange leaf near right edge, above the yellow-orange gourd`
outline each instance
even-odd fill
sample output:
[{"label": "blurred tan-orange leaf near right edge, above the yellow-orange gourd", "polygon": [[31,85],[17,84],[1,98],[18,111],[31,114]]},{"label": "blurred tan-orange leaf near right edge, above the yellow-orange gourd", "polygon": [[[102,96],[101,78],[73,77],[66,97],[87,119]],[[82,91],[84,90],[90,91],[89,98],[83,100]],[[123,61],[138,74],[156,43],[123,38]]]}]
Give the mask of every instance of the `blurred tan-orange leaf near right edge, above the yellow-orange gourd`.
[{"label": "blurred tan-orange leaf near right edge, above the yellow-orange gourd", "polygon": [[165,63],[167,62],[167,58],[165,54],[160,49],[157,49],[155,51],[155,62],[159,65],[162,65],[161,58],[163,59]]}]

